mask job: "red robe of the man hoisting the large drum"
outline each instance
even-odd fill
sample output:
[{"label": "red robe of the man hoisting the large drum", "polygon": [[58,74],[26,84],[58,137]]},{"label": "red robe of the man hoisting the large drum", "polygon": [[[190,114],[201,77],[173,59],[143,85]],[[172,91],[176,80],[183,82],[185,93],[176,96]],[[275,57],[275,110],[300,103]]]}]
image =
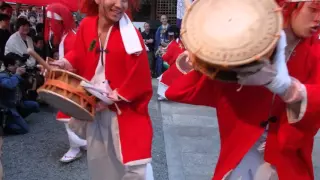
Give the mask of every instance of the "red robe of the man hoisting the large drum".
[{"label": "red robe of the man hoisting the large drum", "polygon": [[[305,85],[307,109],[303,118],[288,123],[286,104],[277,97],[269,123],[265,161],[276,167],[281,180],[313,180],[313,137],[320,117],[320,48],[312,39],[302,40],[288,62],[292,77]],[[210,80],[197,71],[179,78],[166,91],[173,101],[215,107],[221,138],[220,157],[213,180],[234,169],[265,130],[272,93],[264,87]]]}]

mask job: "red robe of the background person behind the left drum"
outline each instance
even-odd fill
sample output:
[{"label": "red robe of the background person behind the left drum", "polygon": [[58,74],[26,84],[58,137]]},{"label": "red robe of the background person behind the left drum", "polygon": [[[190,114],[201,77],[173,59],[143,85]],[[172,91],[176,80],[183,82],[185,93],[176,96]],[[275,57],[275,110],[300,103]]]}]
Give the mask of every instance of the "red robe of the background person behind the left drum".
[{"label": "red robe of the background person behind the left drum", "polygon": [[[69,31],[68,34],[66,35],[66,37],[61,41],[61,43],[63,44],[62,47],[63,47],[64,55],[66,55],[68,52],[70,52],[73,49],[75,40],[76,40],[75,31],[73,31],[73,30]],[[58,121],[69,121],[70,118],[71,118],[70,116],[63,114],[60,111],[58,112],[58,114],[56,116],[56,119]]]}]

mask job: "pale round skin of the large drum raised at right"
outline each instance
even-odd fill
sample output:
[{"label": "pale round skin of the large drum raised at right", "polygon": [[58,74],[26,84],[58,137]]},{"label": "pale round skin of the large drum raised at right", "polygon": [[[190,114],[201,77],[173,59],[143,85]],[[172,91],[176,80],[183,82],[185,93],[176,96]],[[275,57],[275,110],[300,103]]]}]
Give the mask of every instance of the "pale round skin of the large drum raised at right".
[{"label": "pale round skin of the large drum raised at right", "polygon": [[282,30],[274,0],[199,0],[186,11],[181,37],[206,63],[232,67],[273,51]]}]

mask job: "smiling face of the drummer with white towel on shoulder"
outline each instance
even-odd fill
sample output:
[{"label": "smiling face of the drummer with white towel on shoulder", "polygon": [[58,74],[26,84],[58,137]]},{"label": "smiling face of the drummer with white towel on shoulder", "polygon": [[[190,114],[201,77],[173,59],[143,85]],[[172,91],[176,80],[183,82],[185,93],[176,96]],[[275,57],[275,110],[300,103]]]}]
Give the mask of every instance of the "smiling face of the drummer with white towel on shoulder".
[{"label": "smiling face of the drummer with white towel on shoulder", "polygon": [[95,0],[99,14],[107,21],[118,22],[128,9],[128,0]]}]

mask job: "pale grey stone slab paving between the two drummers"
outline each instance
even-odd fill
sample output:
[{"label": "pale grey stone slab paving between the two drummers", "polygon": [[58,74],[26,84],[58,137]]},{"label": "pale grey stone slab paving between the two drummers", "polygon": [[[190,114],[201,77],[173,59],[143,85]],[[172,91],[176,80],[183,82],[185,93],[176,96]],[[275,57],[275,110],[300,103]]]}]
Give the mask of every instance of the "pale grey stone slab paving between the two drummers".
[{"label": "pale grey stone slab paving between the two drummers", "polygon": [[[161,102],[169,180],[211,180],[219,150],[215,109]],[[320,133],[314,150],[316,180],[320,179]]]}]

